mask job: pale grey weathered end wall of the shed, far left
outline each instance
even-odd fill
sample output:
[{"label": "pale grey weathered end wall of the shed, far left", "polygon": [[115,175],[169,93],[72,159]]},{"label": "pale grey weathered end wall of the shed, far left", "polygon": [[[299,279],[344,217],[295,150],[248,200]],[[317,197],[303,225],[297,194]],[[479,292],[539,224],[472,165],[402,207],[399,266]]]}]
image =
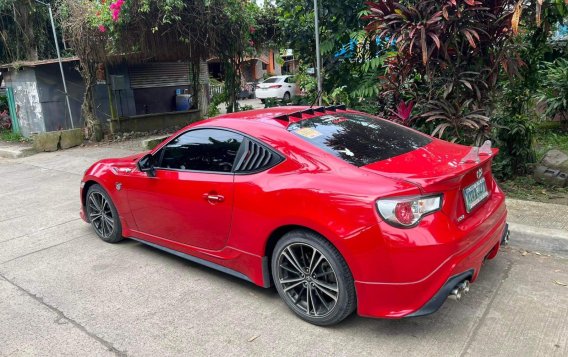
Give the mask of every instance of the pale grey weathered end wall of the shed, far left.
[{"label": "pale grey weathered end wall of the shed, far left", "polygon": [[16,116],[21,134],[29,137],[31,133],[45,131],[42,106],[39,100],[36,75],[33,68],[11,69],[4,76],[6,87],[14,90]]}]

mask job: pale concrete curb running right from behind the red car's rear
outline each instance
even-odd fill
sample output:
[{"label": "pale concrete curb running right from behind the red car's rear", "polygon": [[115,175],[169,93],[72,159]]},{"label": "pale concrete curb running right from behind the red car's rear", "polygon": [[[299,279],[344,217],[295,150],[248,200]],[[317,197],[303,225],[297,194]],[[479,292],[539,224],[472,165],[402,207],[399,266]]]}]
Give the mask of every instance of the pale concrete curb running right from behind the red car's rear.
[{"label": "pale concrete curb running right from behind the red car's rear", "polygon": [[568,255],[568,232],[509,222],[510,245],[533,251]]}]

